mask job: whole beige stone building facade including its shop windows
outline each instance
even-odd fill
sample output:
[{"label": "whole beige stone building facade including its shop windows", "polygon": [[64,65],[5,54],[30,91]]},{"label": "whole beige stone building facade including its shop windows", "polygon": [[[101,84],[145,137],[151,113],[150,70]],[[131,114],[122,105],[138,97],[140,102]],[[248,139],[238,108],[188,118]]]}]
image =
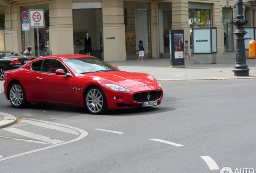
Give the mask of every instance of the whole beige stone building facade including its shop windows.
[{"label": "whole beige stone building facade including its shop windows", "polygon": [[[105,61],[138,58],[139,40],[145,58],[169,57],[169,30],[184,30],[184,40],[190,43],[197,27],[217,28],[217,52],[223,54],[235,51],[235,7],[233,0],[0,0],[0,51],[25,51],[21,14],[43,9],[41,56],[44,48],[53,54],[86,54],[88,33],[90,54]],[[256,25],[254,1],[244,3],[244,16],[248,26]],[[37,55],[36,28],[27,31],[27,42]]]}]

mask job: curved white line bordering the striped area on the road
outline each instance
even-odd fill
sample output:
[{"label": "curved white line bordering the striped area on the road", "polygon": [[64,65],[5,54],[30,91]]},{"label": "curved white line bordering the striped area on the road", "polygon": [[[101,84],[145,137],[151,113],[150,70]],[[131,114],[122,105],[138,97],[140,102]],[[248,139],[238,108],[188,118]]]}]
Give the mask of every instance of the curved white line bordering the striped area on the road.
[{"label": "curved white line bordering the striped area on the road", "polygon": [[58,147],[60,145],[65,145],[65,144],[68,144],[68,143],[72,143],[72,142],[78,141],[80,139],[83,139],[84,137],[86,137],[88,135],[87,131],[85,131],[83,129],[76,128],[76,127],[72,127],[72,126],[68,126],[68,125],[62,125],[62,124],[58,124],[58,123],[47,122],[47,121],[40,121],[40,120],[36,120],[36,119],[30,119],[30,120],[32,120],[32,121],[39,121],[39,122],[48,123],[48,124],[59,125],[59,126],[67,127],[67,128],[70,128],[70,129],[74,129],[76,131],[79,131],[81,133],[81,135],[79,137],[77,137],[76,139],[73,139],[71,141],[67,141],[67,142],[64,142],[64,143],[58,143],[56,145],[51,145],[49,147],[44,147],[44,148],[41,148],[41,149],[36,149],[36,150],[28,151],[28,152],[25,152],[25,153],[21,153],[21,154],[9,156],[9,157],[4,157],[4,158],[0,159],[0,161],[4,161],[4,160],[12,159],[12,158],[15,158],[15,157],[19,157],[19,156],[35,153],[35,152],[38,152],[38,151],[43,151],[43,150],[46,150],[46,149]]}]

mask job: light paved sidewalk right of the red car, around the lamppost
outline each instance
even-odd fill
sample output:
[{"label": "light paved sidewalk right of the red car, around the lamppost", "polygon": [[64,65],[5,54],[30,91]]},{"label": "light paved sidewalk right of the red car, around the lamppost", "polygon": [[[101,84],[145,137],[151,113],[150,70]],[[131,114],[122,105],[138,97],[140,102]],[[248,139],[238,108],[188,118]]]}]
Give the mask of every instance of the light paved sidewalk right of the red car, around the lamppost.
[{"label": "light paved sidewalk right of the red car, around the lamppost", "polygon": [[216,64],[194,64],[194,58],[185,59],[185,68],[170,68],[169,58],[149,58],[144,62],[127,60],[108,62],[120,70],[128,72],[144,72],[151,74],[157,80],[214,80],[235,78],[256,78],[256,59],[246,59],[250,68],[249,76],[237,77],[232,71],[236,64],[236,52],[225,52],[217,55]]}]

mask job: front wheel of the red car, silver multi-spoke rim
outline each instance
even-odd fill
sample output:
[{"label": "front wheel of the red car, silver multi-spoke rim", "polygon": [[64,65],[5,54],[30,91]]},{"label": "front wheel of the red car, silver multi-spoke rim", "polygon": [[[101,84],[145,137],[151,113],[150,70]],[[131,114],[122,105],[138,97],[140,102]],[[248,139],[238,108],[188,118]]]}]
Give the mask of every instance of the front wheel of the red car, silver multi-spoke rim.
[{"label": "front wheel of the red car, silver multi-spoke rim", "polygon": [[94,115],[103,114],[107,111],[107,99],[99,87],[91,87],[86,91],[85,107]]}]

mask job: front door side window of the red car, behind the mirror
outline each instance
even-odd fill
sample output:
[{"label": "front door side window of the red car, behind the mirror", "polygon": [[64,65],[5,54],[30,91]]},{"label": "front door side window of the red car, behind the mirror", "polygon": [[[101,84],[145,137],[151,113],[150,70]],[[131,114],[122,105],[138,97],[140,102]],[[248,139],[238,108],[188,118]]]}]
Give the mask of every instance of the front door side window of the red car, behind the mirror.
[{"label": "front door side window of the red car, behind the mirror", "polygon": [[46,59],[43,60],[42,72],[50,72],[55,73],[57,69],[63,69],[65,73],[67,73],[68,69],[56,59]]}]

